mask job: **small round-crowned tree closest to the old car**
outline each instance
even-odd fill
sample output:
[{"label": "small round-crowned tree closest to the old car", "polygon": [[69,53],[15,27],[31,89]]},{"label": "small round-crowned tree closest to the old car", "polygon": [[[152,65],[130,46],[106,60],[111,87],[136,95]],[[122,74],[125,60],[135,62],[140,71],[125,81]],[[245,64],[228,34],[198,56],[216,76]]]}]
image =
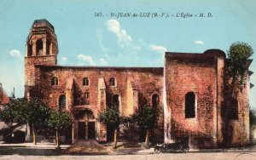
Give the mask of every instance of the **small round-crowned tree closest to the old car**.
[{"label": "small round-crowned tree closest to the old car", "polygon": [[149,148],[150,130],[154,129],[157,117],[157,111],[150,106],[139,107],[131,116],[134,123],[137,123],[140,128],[146,129],[145,148]]}]

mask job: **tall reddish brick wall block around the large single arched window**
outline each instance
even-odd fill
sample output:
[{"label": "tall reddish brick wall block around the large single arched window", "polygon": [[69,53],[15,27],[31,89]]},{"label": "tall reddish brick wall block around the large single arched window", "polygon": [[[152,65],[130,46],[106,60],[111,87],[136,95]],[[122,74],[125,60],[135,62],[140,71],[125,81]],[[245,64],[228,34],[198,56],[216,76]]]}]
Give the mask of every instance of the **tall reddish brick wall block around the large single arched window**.
[{"label": "tall reddish brick wall block around the large single arched window", "polygon": [[[166,54],[166,106],[171,113],[166,126],[171,128],[172,140],[189,139],[195,147],[217,146],[217,108],[222,98],[219,84],[223,83],[218,70],[223,70],[223,64],[219,62],[222,66],[218,68],[222,55],[211,52]],[[195,117],[186,118],[185,95],[189,92],[195,94]]]}]

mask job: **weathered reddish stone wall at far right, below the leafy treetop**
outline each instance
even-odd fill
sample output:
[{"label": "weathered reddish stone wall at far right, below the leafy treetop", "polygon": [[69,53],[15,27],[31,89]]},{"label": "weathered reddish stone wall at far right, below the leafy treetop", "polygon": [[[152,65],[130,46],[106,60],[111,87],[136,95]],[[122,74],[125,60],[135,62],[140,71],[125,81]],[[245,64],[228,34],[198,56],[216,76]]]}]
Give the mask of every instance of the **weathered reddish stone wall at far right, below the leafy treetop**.
[{"label": "weathered reddish stone wall at far right, below the leafy treetop", "polygon": [[[249,62],[249,61],[248,61]],[[229,63],[226,60],[226,64]],[[249,64],[248,64],[249,66]],[[241,89],[232,84],[229,72],[225,74],[225,108],[223,110],[224,146],[247,146],[249,144],[249,76],[246,71]]]}]

